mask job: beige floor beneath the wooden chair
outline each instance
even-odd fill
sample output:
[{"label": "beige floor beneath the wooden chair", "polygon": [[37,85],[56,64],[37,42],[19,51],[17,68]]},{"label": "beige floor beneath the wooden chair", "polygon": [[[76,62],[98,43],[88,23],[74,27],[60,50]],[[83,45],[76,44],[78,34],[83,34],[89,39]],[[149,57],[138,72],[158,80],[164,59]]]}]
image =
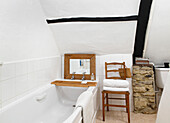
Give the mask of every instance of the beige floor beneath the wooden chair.
[{"label": "beige floor beneath the wooden chair", "polygon": [[[127,123],[127,113],[122,111],[106,111],[105,122],[102,111],[98,111],[96,123]],[[155,123],[156,114],[135,114],[131,112],[131,123]]]}]

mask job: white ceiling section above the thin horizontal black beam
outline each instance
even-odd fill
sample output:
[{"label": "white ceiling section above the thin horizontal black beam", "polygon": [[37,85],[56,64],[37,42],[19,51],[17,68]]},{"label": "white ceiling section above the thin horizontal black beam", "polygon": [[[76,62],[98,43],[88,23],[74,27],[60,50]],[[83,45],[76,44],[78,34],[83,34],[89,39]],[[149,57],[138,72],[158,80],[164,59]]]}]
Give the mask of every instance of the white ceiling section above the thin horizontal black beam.
[{"label": "white ceiling section above the thin horizontal black beam", "polygon": [[47,18],[137,15],[140,0],[41,0]]}]

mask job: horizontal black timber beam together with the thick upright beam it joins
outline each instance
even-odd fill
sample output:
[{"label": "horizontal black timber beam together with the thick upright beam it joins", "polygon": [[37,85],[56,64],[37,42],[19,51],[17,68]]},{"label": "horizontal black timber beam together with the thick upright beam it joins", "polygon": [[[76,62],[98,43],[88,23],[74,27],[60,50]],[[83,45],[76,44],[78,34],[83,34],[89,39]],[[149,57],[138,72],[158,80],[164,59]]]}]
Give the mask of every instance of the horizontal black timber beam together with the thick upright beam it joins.
[{"label": "horizontal black timber beam together with the thick upright beam it joins", "polygon": [[142,57],[145,46],[145,36],[150,16],[152,0],[141,0],[138,15],[124,17],[73,17],[47,19],[48,24],[65,23],[65,22],[116,22],[116,21],[137,21],[133,61],[135,57]]}]

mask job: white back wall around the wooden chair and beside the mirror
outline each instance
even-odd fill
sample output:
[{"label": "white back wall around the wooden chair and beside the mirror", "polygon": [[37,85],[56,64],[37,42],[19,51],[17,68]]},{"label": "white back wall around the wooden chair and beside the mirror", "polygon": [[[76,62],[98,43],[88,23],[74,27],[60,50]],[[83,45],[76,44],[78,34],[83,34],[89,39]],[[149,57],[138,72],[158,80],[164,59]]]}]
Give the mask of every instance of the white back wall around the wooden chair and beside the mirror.
[{"label": "white back wall around the wooden chair and beside the mirror", "polygon": [[[96,78],[100,84],[100,96],[102,92],[103,79],[105,78],[105,62],[126,62],[126,66],[132,70],[132,54],[110,54],[110,55],[97,55],[96,56]],[[64,56],[62,56],[62,78],[64,78]],[[130,84],[130,107],[133,110],[133,94],[132,94],[132,79],[127,78]],[[117,95],[114,95],[119,97]],[[121,96],[122,97],[122,96]],[[112,101],[114,104],[124,104],[123,101]],[[100,97],[100,108],[102,106],[102,98]],[[124,110],[124,108],[112,108],[116,110]]]}]

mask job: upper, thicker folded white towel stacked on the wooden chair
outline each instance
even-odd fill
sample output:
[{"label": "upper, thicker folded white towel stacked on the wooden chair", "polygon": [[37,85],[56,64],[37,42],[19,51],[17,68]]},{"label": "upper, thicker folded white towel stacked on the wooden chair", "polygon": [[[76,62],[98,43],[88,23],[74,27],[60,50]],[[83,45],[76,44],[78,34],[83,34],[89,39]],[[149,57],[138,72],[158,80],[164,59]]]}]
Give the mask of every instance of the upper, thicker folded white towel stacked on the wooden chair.
[{"label": "upper, thicker folded white towel stacked on the wooden chair", "polygon": [[104,79],[103,86],[112,88],[128,88],[129,82],[127,80]]}]

